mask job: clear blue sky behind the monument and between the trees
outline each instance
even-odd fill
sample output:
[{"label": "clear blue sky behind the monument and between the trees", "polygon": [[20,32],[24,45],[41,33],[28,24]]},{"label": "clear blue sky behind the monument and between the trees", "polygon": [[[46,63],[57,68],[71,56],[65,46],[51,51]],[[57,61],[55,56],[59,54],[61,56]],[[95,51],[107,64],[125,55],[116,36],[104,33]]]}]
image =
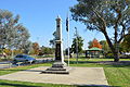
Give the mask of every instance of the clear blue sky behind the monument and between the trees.
[{"label": "clear blue sky behind the monument and between the trees", "polygon": [[[57,15],[62,18],[63,29],[63,47],[67,48],[67,32],[66,16],[69,13],[69,8],[77,3],[77,0],[0,0],[0,9],[11,11],[14,16],[20,14],[22,23],[29,32],[32,42],[37,41],[40,46],[51,47],[49,40],[53,38],[53,33],[56,30]],[[83,49],[88,49],[88,42],[96,38],[98,40],[105,39],[100,32],[90,32],[79,22],[70,20],[70,44],[72,46],[75,27],[79,35],[83,38]]]}]

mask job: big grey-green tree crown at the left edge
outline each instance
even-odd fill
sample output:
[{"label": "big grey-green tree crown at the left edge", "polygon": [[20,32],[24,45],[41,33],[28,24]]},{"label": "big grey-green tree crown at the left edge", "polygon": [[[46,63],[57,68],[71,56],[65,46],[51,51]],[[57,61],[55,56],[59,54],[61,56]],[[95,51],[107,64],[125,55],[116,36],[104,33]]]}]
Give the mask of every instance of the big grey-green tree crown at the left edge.
[{"label": "big grey-green tree crown at the left edge", "polygon": [[20,49],[28,38],[29,33],[18,23],[20,15],[13,16],[8,10],[0,10],[0,47]]}]

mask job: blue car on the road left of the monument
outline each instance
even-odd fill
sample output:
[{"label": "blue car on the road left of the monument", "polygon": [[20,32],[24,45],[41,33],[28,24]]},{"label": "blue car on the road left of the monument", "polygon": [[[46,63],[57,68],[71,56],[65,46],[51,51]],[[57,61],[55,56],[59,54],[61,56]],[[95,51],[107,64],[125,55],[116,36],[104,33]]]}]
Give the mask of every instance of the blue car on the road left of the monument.
[{"label": "blue car on the road left of the monument", "polygon": [[14,57],[13,63],[17,63],[17,62],[35,63],[36,59],[25,54],[17,54],[16,57]]}]

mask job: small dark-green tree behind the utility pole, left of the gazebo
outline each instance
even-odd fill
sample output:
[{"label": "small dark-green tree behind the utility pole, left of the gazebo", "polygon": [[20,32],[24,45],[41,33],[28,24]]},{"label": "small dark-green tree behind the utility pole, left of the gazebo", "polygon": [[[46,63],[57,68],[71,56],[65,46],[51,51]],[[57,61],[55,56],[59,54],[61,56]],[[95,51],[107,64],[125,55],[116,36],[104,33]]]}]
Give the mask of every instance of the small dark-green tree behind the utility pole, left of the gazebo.
[{"label": "small dark-green tree behind the utility pole, left of the gazebo", "polygon": [[78,42],[78,52],[81,53],[83,47],[83,39],[80,36],[73,39],[72,50],[74,51],[74,53],[77,52],[76,51],[77,42]]}]

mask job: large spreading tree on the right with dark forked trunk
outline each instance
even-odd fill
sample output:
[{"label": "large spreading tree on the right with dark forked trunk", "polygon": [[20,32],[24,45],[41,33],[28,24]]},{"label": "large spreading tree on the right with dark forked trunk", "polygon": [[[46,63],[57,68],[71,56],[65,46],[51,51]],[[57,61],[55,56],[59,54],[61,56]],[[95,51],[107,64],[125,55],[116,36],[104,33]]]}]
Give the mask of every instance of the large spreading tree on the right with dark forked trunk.
[{"label": "large spreading tree on the right with dark forked trunk", "polygon": [[[130,28],[130,0],[77,0],[70,8],[73,18],[87,26],[89,30],[101,32],[118,62],[118,46]],[[108,30],[114,32],[113,38]]]}]

